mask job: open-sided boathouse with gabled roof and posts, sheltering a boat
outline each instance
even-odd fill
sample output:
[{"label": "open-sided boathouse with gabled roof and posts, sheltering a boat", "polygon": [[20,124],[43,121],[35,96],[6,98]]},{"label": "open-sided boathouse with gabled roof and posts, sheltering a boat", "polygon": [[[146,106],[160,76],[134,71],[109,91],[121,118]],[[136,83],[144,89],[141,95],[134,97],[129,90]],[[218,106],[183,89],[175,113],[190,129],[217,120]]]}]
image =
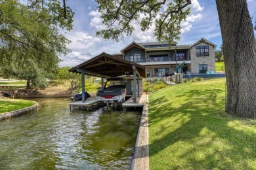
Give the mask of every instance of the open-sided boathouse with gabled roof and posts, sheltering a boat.
[{"label": "open-sided boathouse with gabled roof and posts, sheltering a boat", "polygon": [[[125,59],[116,58],[110,54],[102,53],[69,70],[81,74],[82,102],[85,103],[85,75],[101,78],[101,86],[104,88],[104,78],[123,77],[127,80],[127,96],[131,96],[133,103],[138,103],[141,97],[142,78],[146,77],[146,69],[139,63],[133,63]],[[131,101],[131,100],[130,100]]]}]

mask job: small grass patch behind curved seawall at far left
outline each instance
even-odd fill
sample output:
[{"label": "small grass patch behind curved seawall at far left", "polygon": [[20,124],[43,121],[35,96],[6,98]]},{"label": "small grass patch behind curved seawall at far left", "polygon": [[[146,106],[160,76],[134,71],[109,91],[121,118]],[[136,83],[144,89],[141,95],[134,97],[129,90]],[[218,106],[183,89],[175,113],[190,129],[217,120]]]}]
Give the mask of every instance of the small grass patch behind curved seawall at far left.
[{"label": "small grass patch behind curved seawall at far left", "polygon": [[34,101],[3,98],[0,99],[0,114],[18,109],[24,109],[26,107],[31,107],[34,104]]}]

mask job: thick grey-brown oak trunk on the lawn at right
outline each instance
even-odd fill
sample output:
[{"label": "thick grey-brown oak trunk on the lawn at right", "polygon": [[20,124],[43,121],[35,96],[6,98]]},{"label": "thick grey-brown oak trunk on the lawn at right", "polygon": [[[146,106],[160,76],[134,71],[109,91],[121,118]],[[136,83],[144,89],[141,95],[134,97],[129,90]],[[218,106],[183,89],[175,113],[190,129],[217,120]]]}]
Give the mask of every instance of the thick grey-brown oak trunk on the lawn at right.
[{"label": "thick grey-brown oak trunk on the lawn at right", "polygon": [[256,118],[256,45],[246,0],[216,0],[226,69],[226,112]]}]

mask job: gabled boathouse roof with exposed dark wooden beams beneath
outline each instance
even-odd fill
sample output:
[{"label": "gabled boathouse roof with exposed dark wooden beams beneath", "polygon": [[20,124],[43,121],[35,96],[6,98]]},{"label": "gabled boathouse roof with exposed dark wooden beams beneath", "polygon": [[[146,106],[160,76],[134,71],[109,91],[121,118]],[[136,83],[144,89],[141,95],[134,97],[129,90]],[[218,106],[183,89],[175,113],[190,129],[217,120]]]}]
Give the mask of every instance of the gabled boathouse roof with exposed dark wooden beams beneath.
[{"label": "gabled boathouse roof with exposed dark wooden beams beneath", "polygon": [[122,75],[133,75],[133,66],[136,67],[140,76],[146,77],[146,70],[143,65],[133,63],[125,59],[116,58],[103,52],[95,58],[91,58],[70,69],[70,72],[81,73],[84,71],[87,75],[116,77]]}]

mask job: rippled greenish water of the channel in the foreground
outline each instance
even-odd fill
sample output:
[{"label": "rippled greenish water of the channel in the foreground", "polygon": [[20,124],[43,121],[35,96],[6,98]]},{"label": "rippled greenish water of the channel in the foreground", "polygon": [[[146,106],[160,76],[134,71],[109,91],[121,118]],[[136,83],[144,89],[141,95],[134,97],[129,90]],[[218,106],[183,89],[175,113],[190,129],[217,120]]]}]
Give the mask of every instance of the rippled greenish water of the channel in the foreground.
[{"label": "rippled greenish water of the channel in the foreground", "polygon": [[0,121],[0,169],[129,169],[141,112],[70,112],[69,99],[33,99]]}]

